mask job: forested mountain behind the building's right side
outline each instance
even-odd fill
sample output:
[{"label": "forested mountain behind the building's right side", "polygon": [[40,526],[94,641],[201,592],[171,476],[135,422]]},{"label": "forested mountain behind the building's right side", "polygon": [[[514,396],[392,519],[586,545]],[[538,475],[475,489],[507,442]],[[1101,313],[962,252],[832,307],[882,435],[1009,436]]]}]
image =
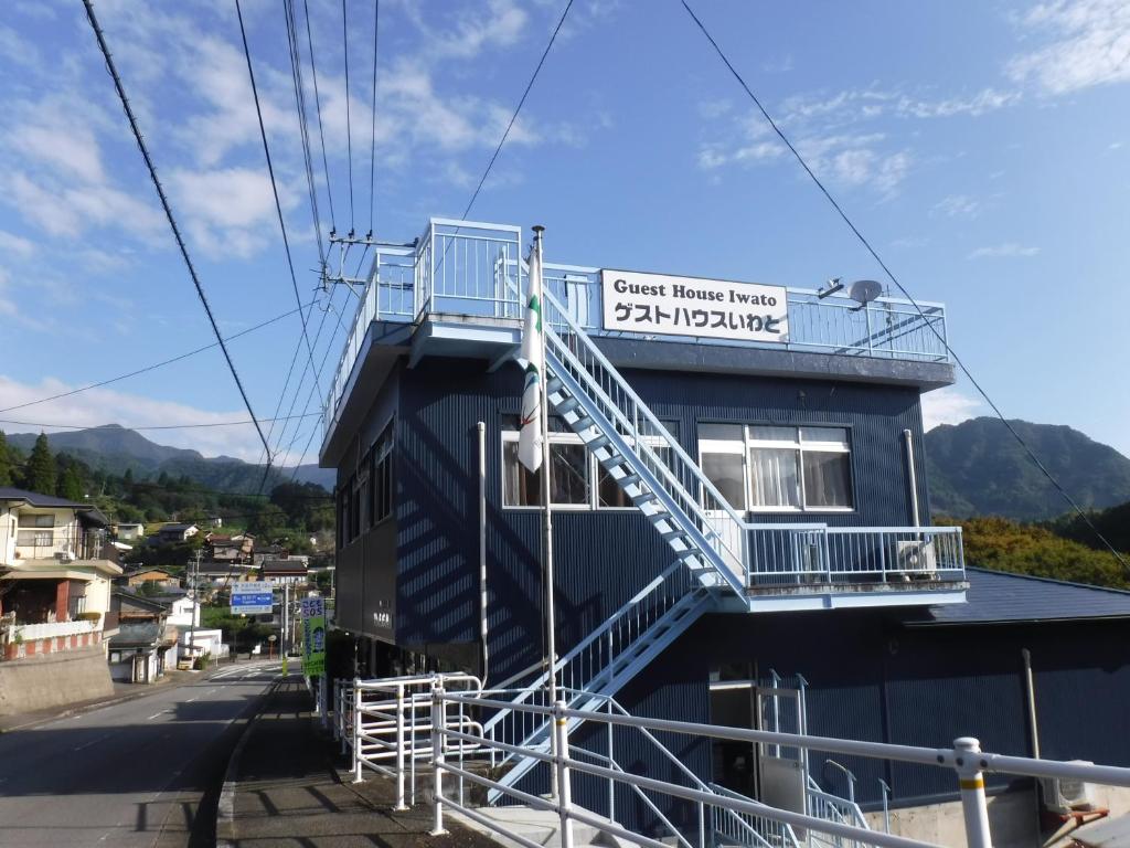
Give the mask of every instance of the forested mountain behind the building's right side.
[{"label": "forested mountain behind the building's right side", "polygon": [[[1084,509],[1130,501],[1130,459],[1068,426],[1009,422]],[[925,434],[933,511],[947,516],[1053,518],[1067,501],[997,418],[942,424]]]}]

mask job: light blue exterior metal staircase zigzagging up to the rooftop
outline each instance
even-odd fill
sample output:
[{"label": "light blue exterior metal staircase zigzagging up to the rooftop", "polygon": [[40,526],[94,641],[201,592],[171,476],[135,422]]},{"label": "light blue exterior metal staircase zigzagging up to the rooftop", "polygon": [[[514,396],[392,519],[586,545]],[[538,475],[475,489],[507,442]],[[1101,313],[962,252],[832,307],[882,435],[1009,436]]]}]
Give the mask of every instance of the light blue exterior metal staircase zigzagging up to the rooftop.
[{"label": "light blue exterior metal staircase zigzagging up to the rooftop", "polygon": [[[592,451],[670,546],[675,561],[554,666],[571,708],[599,709],[706,611],[745,591],[742,518],[727,503],[568,312],[544,292],[547,393],[556,414]],[[705,504],[709,504],[709,508]],[[513,699],[545,695],[548,673]],[[548,749],[549,722],[499,711],[484,722],[492,738]],[[576,726],[580,719],[571,719]],[[513,786],[534,767],[507,755],[501,779]],[[489,801],[501,793],[495,790]]]}]

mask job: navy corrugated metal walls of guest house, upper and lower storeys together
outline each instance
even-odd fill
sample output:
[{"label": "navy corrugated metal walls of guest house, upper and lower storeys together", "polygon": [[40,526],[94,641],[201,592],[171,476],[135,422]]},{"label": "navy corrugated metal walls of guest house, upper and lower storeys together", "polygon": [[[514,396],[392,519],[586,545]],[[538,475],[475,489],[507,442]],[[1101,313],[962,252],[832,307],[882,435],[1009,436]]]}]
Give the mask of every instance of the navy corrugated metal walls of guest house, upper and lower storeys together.
[{"label": "navy corrugated metal walls of guest house, upper and lower storeys together", "polygon": [[[637,371],[632,384],[696,455],[698,421],[840,424],[852,429],[857,510],[822,516],[829,522],[888,526],[910,522],[902,431],[915,434],[919,496],[928,514],[921,414],[913,389],[845,382],[788,381]],[[476,422],[487,425],[487,545],[490,592],[490,681],[537,661],[542,652],[539,570],[540,517],[501,508],[502,417],[518,410],[516,369],[484,373],[481,363],[431,360],[405,371],[397,427],[397,641],[409,646],[473,643],[478,632],[478,505]],[[366,432],[380,432],[370,421]],[[793,516],[805,520],[803,516]],[[810,517],[808,517],[810,518]],[[767,516],[766,520],[788,520]],[[650,525],[631,512],[555,512],[558,649],[577,639],[671,561]],[[388,540],[383,543],[390,545]],[[339,608],[364,620],[357,597],[377,553],[347,548],[339,561]],[[365,592],[368,594],[368,592]],[[356,611],[355,611],[356,607]],[[809,730],[850,738],[948,745],[979,735],[986,747],[1027,752],[1019,648],[1032,649],[1045,756],[1130,764],[1130,737],[1115,735],[1130,702],[1130,628],[1044,624],[907,629],[913,611],[837,611],[771,615],[712,615],[702,620],[620,693],[637,715],[709,720],[707,680],[722,664],[747,664],[765,675],[803,674],[809,683]],[[1106,693],[1099,694],[1099,693]],[[711,777],[710,746],[668,739],[680,760]],[[603,753],[602,734],[579,742]],[[670,764],[640,738],[617,730],[617,759],[628,769],[670,776]],[[843,794],[843,778],[812,773]],[[941,770],[887,768],[836,758],[860,779],[864,804],[879,801],[878,778],[895,804],[955,797]],[[538,788],[533,778],[527,788]],[[1002,779],[991,781],[994,787]],[[607,810],[605,788],[581,781],[577,801]],[[694,811],[664,812],[695,827]],[[638,802],[617,794],[617,816],[645,827]]]}]

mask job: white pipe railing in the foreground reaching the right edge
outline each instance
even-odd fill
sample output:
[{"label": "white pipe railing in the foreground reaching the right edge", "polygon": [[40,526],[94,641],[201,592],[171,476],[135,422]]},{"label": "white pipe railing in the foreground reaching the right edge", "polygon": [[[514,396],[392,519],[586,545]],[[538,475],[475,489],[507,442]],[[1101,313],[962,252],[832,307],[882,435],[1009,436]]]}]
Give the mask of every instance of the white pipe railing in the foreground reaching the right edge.
[{"label": "white pipe railing in the foreground reaching the right edge", "polygon": [[[452,709],[518,709],[550,720],[554,728],[553,745],[514,746],[490,739],[462,729],[449,728],[447,713]],[[432,698],[432,756],[431,770],[433,780],[432,802],[433,832],[443,833],[445,810],[455,810],[503,836],[515,838],[506,824],[478,814],[464,803],[464,795],[452,798],[444,793],[444,778],[454,778],[460,787],[464,782],[485,787],[488,790],[502,791],[521,804],[528,804],[538,810],[556,813],[560,822],[560,845],[573,846],[573,824],[581,822],[597,830],[624,838],[641,846],[661,848],[663,841],[652,837],[628,831],[615,821],[594,815],[572,801],[572,785],[576,776],[589,776],[598,780],[609,781],[618,786],[628,786],[672,799],[683,799],[696,804],[699,808],[709,808],[711,821],[716,821],[713,810],[720,808],[736,813],[741,821],[751,822],[767,820],[780,825],[788,825],[796,831],[805,830],[819,834],[825,845],[859,845],[881,846],[883,848],[928,848],[930,843],[905,837],[877,832],[860,828],[850,821],[838,821],[829,813],[828,817],[817,817],[809,813],[770,807],[749,798],[736,796],[733,793],[719,793],[709,786],[684,786],[671,781],[658,780],[643,775],[628,773],[590,762],[591,758],[579,754],[570,742],[571,720],[577,719],[590,725],[605,725],[608,728],[628,727],[651,732],[676,734],[692,739],[729,739],[748,744],[767,744],[796,747],[803,751],[823,751],[852,756],[864,756],[916,765],[953,770],[958,785],[967,845],[970,848],[991,848],[989,832],[989,815],[984,793],[985,773],[1009,773],[1034,778],[1067,778],[1094,784],[1130,787],[1130,769],[1113,765],[1093,765],[1078,762],[1060,762],[1053,760],[1035,760],[1024,756],[1009,756],[982,752],[977,739],[963,737],[955,739],[951,749],[928,749],[911,745],[893,745],[887,743],[861,742],[834,737],[812,736],[808,734],[788,734],[766,730],[747,730],[734,727],[672,721],[669,719],[644,718],[624,715],[614,710],[570,709],[563,701],[551,707],[536,704],[512,706],[507,701],[497,700],[490,693],[459,694],[447,693],[436,689]],[[462,765],[449,762],[446,751],[449,744],[457,746],[477,745],[484,750],[496,747],[501,751],[516,752],[523,758],[530,758],[547,764],[556,773],[556,795],[548,798],[521,791],[512,786],[505,786],[490,777],[473,773]],[[609,758],[612,759],[612,758]],[[841,811],[841,814],[842,811]],[[742,819],[742,816],[746,816]],[[756,828],[751,828],[756,830]],[[759,832],[759,831],[758,831]],[[680,833],[679,842],[695,839],[694,833]],[[764,834],[762,834],[764,839]],[[521,837],[518,838],[521,841]],[[705,834],[699,828],[698,846],[706,848]],[[523,845],[525,842],[522,842]],[[745,842],[760,845],[759,842]],[[692,845],[694,845],[692,842]]]}]

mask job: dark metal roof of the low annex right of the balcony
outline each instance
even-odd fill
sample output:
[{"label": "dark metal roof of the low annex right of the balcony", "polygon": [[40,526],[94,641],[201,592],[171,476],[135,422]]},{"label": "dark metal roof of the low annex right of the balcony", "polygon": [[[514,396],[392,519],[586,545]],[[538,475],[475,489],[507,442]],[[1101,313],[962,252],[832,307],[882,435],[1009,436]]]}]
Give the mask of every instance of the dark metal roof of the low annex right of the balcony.
[{"label": "dark metal roof of the low annex right of the balcony", "polygon": [[1027,574],[966,569],[965,604],[932,606],[910,625],[1130,618],[1130,591]]}]

